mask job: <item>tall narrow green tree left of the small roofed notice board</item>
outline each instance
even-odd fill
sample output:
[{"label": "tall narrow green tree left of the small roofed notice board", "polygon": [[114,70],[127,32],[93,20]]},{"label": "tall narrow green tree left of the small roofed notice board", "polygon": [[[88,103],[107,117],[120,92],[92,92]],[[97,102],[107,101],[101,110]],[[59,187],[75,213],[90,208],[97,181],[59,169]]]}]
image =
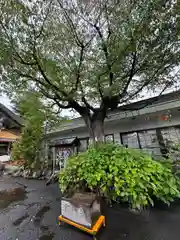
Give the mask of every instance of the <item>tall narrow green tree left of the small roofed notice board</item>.
[{"label": "tall narrow green tree left of the small roofed notice board", "polygon": [[24,118],[25,126],[20,141],[13,146],[13,160],[24,159],[26,165],[31,165],[39,158],[38,152],[44,134],[45,121],[42,106],[38,95],[34,93],[26,93],[19,100],[18,108]]}]

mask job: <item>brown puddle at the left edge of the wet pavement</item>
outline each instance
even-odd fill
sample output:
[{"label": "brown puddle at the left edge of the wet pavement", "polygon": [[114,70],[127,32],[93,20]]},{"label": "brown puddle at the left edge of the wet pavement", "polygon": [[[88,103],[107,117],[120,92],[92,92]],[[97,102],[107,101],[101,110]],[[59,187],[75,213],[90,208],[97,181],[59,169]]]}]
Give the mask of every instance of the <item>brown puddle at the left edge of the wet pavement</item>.
[{"label": "brown puddle at the left edge of the wet pavement", "polygon": [[11,203],[26,199],[24,188],[12,188],[0,191],[0,209],[8,207]]}]

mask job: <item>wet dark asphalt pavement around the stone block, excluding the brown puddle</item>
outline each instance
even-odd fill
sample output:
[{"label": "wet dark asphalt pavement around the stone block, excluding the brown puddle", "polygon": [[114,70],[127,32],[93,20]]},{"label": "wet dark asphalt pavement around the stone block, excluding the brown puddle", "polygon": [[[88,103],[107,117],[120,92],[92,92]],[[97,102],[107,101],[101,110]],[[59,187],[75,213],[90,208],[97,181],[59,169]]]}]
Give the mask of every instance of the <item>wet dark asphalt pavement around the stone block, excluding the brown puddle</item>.
[{"label": "wet dark asphalt pavement around the stone block, excluding the brown puddle", "polygon": [[[27,185],[25,199],[0,206],[0,240],[90,240],[67,225],[58,226],[60,191],[44,181],[0,178],[0,189]],[[180,204],[135,214],[119,205],[107,209],[98,240],[180,240]]]}]

